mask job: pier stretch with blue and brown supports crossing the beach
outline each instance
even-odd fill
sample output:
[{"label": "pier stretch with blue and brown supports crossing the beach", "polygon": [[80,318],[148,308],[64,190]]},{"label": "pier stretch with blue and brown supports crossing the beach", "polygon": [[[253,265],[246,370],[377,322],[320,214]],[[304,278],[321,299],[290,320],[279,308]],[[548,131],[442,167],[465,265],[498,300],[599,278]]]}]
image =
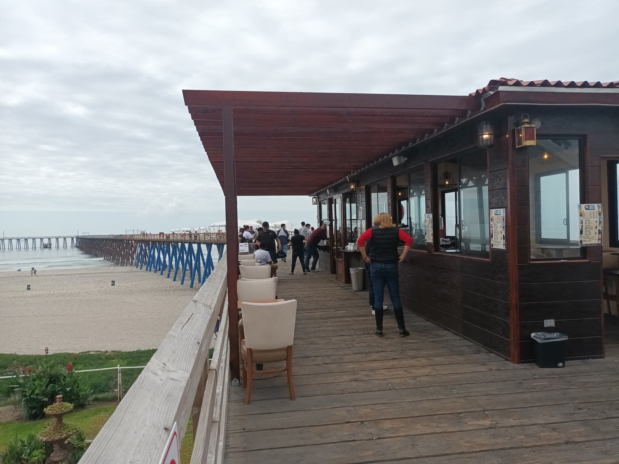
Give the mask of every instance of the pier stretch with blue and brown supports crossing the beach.
[{"label": "pier stretch with blue and brown supports crossing the beach", "polygon": [[76,247],[119,266],[167,273],[166,277],[174,281],[180,277],[181,285],[189,274],[189,287],[193,288],[196,280],[204,283],[215,269],[213,245],[220,260],[225,241],[225,233],[84,235],[77,237]]}]

